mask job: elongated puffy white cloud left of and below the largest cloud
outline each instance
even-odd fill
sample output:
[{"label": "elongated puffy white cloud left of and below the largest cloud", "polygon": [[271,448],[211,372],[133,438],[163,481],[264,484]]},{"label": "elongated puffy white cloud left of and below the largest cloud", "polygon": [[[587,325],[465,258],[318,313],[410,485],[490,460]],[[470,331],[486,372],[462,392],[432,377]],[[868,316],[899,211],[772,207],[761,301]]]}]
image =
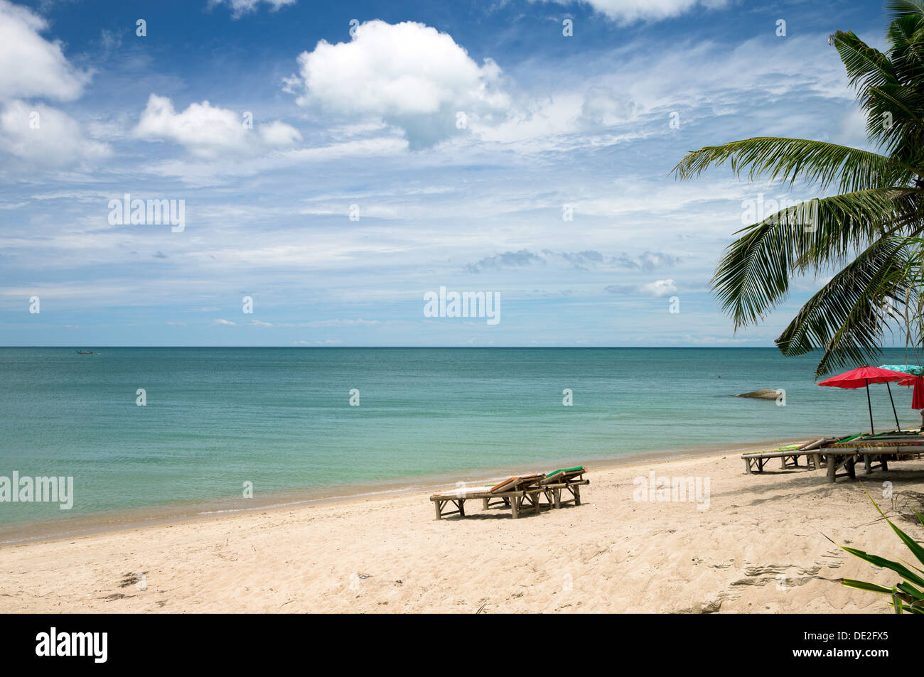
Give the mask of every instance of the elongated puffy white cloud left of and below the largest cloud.
[{"label": "elongated puffy white cloud left of and below the largest cloud", "polygon": [[166,139],[184,146],[193,155],[215,158],[225,153],[250,154],[293,145],[301,135],[284,122],[245,125],[243,115],[207,101],[190,103],[176,113],[173,102],[152,94],[134,130],[140,139]]}]

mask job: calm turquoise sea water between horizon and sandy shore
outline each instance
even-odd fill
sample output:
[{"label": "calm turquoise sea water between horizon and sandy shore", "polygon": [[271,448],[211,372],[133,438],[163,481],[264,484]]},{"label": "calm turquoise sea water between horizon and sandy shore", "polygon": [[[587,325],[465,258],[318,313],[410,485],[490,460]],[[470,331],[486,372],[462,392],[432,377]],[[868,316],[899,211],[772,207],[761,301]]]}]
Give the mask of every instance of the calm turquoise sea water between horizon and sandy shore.
[{"label": "calm turquoise sea water between horizon and sandy shore", "polygon": [[[259,497],[869,428],[863,391],[820,388],[811,357],[773,348],[92,350],[0,349],[0,476],[75,484],[69,511],[0,502],[0,526],[244,504],[245,481]],[[760,388],[786,405],[728,397]],[[908,389],[893,393],[919,426]],[[872,396],[894,427],[885,387]]]}]

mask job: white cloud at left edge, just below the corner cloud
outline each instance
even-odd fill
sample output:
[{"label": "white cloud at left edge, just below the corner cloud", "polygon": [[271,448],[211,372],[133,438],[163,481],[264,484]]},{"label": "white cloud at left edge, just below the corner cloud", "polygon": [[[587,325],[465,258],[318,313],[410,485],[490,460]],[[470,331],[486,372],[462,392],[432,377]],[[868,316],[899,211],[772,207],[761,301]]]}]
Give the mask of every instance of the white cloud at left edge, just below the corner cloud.
[{"label": "white cloud at left edge, just below the corner cloud", "polygon": [[22,101],[6,103],[0,109],[0,150],[36,167],[109,155],[108,146],[84,138],[77,121],[67,114]]}]

